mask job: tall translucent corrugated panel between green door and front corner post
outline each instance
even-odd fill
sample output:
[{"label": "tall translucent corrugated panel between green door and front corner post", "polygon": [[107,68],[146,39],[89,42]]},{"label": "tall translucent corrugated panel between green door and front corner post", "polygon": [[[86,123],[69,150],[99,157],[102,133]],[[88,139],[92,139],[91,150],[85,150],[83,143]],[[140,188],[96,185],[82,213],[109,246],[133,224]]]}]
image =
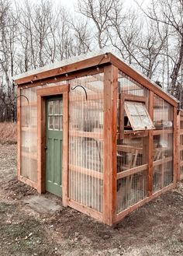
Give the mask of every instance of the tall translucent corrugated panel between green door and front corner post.
[{"label": "tall translucent corrugated panel between green door and front corner post", "polygon": [[74,79],[70,86],[69,198],[102,212],[103,75]]}]

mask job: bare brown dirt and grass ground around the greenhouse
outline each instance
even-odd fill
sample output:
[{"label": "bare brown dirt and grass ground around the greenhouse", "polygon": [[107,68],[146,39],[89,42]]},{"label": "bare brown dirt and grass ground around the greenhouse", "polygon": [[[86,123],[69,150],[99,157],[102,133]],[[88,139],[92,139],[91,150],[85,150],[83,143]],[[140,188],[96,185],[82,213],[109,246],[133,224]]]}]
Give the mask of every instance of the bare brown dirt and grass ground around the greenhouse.
[{"label": "bare brown dirt and grass ground around the greenhouse", "polygon": [[16,146],[0,145],[0,255],[183,255],[183,184],[115,227],[70,208],[34,212],[23,199],[35,194],[16,181]]}]

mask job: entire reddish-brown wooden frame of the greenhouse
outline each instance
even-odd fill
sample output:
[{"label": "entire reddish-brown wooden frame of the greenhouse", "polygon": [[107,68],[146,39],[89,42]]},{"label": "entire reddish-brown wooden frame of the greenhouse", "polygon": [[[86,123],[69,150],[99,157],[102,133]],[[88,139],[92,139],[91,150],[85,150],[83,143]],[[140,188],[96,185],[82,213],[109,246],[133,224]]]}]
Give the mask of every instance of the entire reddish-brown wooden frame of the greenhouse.
[{"label": "entire reddish-brown wooden frame of the greenhouse", "polygon": [[[136,82],[139,82],[142,86],[149,89],[148,98],[145,96],[133,96],[125,93],[118,92],[118,76],[119,70],[121,70],[125,75],[128,75],[129,78],[134,79]],[[85,96],[70,96],[69,85],[57,85],[54,83],[82,77],[85,75],[95,75],[104,72],[104,90],[103,94],[98,93],[96,88],[94,93],[88,94],[88,100],[103,99],[104,100],[104,128],[103,132],[79,132],[79,131],[69,131],[68,128],[68,100],[71,100],[74,103],[74,106],[77,106],[78,100],[82,100]],[[63,94],[64,101],[64,138],[63,138],[63,178],[62,178],[62,187],[63,187],[63,205],[71,206],[74,209],[77,209],[80,212],[84,212],[88,216],[94,217],[99,221],[112,226],[115,223],[118,223],[124,216],[132,212],[134,209],[137,209],[146,202],[149,202],[153,198],[161,195],[164,191],[174,188],[177,182],[177,179],[180,177],[178,170],[180,170],[180,162],[178,162],[178,127],[177,127],[177,103],[176,101],[166,93],[164,93],[157,86],[154,86],[152,82],[148,79],[145,79],[138,72],[134,71],[133,68],[130,68],[128,65],[120,61],[114,55],[110,53],[100,54],[97,57],[88,58],[84,61],[78,61],[77,63],[65,65],[64,67],[54,68],[50,71],[40,72],[36,75],[29,75],[27,77],[16,79],[18,83],[18,96],[20,95],[21,88],[32,88],[36,86],[42,86],[46,83],[53,83],[52,86],[47,88],[42,88],[37,90],[37,101],[31,102],[30,106],[37,107],[37,132],[38,132],[38,142],[37,142],[37,182],[30,181],[26,177],[21,176],[21,132],[26,131],[26,127],[21,127],[21,100],[18,98],[18,111],[17,111],[17,132],[18,132],[18,178],[19,181],[23,181],[26,184],[29,184],[33,188],[36,188],[40,193],[45,192],[45,139],[46,139],[46,116],[45,116],[45,100],[47,96],[54,96]],[[87,87],[87,86],[86,86]],[[91,86],[92,88],[92,86]],[[145,130],[145,131],[132,131],[124,132],[124,122],[122,115],[120,114],[120,138],[117,134],[117,101],[119,100],[119,111],[122,113],[124,110],[124,101],[135,101],[143,102],[146,107],[148,106],[148,113],[151,120],[154,117],[154,95],[160,96],[167,103],[170,103],[174,107],[174,127],[167,128],[164,131],[161,130]],[[120,97],[119,97],[120,95]],[[86,103],[87,104],[87,103]],[[28,104],[22,103],[22,106],[26,107]],[[179,121],[180,124],[180,121]],[[33,131],[36,132],[36,128],[33,128]],[[179,128],[180,131],[180,128]],[[71,136],[76,137],[85,137],[85,138],[95,138],[98,141],[104,142],[103,145],[103,173],[100,173],[95,170],[89,170],[87,168],[78,168],[74,165],[68,165],[68,132]],[[181,131],[180,131],[181,132]],[[174,133],[174,156],[167,157],[166,160],[156,160],[153,159],[154,147],[153,147],[153,136],[161,134],[171,134]],[[183,132],[182,132],[183,133]],[[124,146],[117,145],[117,139],[130,139],[136,138],[138,136],[144,137],[148,142],[144,142],[145,149],[141,150],[140,153],[146,151],[146,156],[148,156],[148,162],[144,163],[141,166],[131,167],[129,170],[123,170],[117,173],[117,157],[116,152],[120,149],[130,152],[131,148],[125,149]],[[174,163],[174,182],[173,184],[168,185],[167,187],[157,191],[153,194],[153,168],[158,166],[164,161],[172,161]],[[183,161],[182,161],[183,165]],[[75,202],[68,197],[68,167],[80,174],[87,174],[88,176],[97,178],[98,180],[103,180],[103,211],[97,212],[94,209],[91,209],[89,206],[82,205],[79,202]],[[178,169],[179,167],[179,169]],[[123,212],[116,212],[117,209],[117,181],[124,177],[128,177],[132,174],[137,174],[142,170],[147,170],[147,198],[143,198],[140,202],[130,206],[128,209],[125,209]]]}]

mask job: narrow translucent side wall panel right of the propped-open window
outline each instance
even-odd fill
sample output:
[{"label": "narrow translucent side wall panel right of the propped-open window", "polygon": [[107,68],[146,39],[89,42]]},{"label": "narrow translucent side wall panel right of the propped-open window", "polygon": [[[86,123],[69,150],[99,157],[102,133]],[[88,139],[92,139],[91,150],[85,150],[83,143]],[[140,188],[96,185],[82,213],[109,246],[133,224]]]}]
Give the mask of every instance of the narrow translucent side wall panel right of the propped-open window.
[{"label": "narrow translucent side wall panel right of the propped-open window", "polygon": [[154,96],[154,186],[153,191],[173,181],[173,107]]}]

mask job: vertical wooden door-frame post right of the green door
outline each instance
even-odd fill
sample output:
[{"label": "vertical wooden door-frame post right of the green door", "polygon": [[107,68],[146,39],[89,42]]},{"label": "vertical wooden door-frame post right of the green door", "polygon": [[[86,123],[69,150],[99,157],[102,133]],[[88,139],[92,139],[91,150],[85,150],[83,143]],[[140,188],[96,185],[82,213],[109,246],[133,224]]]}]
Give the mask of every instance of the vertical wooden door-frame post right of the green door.
[{"label": "vertical wooden door-frame post right of the green door", "polygon": [[62,166],[62,204],[67,206],[68,198],[68,91],[63,93],[63,166]]}]

